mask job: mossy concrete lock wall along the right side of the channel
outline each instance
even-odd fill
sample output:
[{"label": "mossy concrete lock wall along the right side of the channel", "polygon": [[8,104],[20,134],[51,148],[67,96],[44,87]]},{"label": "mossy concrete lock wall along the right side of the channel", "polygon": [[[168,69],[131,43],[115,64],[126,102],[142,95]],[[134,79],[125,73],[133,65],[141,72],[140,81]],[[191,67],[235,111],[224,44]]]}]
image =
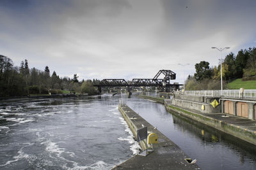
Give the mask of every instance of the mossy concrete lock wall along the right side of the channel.
[{"label": "mossy concrete lock wall along the right side of the channel", "polygon": [[[141,96],[145,99],[154,100],[157,97]],[[221,113],[221,104],[213,108],[209,102],[213,101],[212,98],[191,97],[191,101],[186,96],[173,96],[172,99],[164,99],[158,97],[157,101],[164,100],[164,105],[167,111],[177,115],[191,118],[202,124],[218,129],[236,138],[242,139],[248,143],[256,145],[256,122],[250,119],[227,116]],[[202,110],[204,105],[205,110]]]}]

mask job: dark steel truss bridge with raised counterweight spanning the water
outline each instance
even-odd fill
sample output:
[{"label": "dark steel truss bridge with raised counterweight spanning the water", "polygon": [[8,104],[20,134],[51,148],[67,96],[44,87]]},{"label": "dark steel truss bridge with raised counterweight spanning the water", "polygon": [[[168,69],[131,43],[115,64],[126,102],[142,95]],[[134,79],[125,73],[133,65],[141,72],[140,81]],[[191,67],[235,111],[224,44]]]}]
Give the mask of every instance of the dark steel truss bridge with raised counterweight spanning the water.
[{"label": "dark steel truss bridge with raised counterweight spanning the water", "polygon": [[[163,74],[164,78],[159,79],[159,76]],[[170,92],[171,89],[179,89],[182,84],[170,84],[170,80],[175,80],[176,73],[168,69],[161,69],[158,71],[154,78],[134,78],[132,81],[125,81],[124,79],[103,79],[98,84],[94,84],[94,87],[98,87],[101,92],[102,87],[127,87],[130,91],[132,87],[160,87],[164,92]]]}]

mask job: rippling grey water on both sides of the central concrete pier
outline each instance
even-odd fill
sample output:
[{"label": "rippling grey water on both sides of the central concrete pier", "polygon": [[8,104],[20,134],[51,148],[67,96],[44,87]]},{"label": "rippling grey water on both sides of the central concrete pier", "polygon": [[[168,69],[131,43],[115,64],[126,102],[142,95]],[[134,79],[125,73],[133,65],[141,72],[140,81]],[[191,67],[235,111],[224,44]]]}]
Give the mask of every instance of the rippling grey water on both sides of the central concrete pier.
[{"label": "rippling grey water on both sides of the central concrete pier", "polygon": [[137,146],[117,108],[121,97],[202,169],[256,169],[254,146],[135,95],[0,103],[0,169],[111,169],[124,162]]}]

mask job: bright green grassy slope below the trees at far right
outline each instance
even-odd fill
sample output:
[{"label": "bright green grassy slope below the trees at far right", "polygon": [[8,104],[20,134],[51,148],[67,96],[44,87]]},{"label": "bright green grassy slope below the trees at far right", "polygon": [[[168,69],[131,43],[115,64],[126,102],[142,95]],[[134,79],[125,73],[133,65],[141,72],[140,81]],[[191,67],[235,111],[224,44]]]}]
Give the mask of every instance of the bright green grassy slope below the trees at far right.
[{"label": "bright green grassy slope below the trees at far right", "polygon": [[256,80],[252,81],[242,81],[241,78],[238,78],[230,83],[228,83],[228,89],[256,89]]}]

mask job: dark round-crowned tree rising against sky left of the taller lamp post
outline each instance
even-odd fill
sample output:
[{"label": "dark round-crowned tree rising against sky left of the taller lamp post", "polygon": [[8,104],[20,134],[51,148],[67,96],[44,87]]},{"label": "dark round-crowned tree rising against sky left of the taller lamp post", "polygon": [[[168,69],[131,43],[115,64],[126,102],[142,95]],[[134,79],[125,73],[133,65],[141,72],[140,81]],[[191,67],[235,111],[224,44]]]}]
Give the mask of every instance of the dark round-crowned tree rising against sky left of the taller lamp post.
[{"label": "dark round-crowned tree rising against sky left of the taller lamp post", "polygon": [[209,67],[209,62],[201,61],[195,64],[196,73],[194,74],[196,81],[202,81],[205,78],[211,78],[212,69]]}]

